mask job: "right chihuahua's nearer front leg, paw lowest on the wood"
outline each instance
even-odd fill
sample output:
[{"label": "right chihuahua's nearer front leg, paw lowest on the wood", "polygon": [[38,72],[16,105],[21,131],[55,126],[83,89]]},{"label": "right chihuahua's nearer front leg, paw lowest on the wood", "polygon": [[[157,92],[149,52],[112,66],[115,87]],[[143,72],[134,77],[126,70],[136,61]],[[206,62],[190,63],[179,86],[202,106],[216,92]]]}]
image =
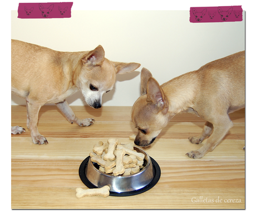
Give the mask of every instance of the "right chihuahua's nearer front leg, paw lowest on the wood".
[{"label": "right chihuahua's nearer front leg, paw lowest on the wood", "polygon": [[213,151],[215,146],[217,146],[222,138],[228,133],[229,129],[233,126],[233,122],[230,121],[229,116],[222,116],[218,122],[213,122],[213,133],[208,138],[204,146],[199,148],[199,150],[194,150],[186,153],[191,158],[201,158],[207,152]]}]

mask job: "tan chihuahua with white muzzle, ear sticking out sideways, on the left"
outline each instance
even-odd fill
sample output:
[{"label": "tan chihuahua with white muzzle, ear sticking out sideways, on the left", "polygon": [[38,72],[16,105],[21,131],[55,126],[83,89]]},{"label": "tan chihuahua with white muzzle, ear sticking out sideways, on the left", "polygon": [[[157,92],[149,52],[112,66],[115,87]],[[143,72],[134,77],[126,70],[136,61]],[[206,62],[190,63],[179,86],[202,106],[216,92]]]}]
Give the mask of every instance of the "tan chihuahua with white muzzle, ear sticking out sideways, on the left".
[{"label": "tan chihuahua with white muzzle, ear sticking out sideways, on the left", "polygon": [[[116,73],[128,73],[139,63],[112,62],[101,46],[87,52],[58,52],[35,44],[12,40],[12,92],[26,98],[27,127],[34,143],[48,143],[37,129],[38,112],[45,103],[56,106],[71,123],[90,126],[93,118],[78,119],[65,98],[82,92],[86,103],[101,107],[102,95],[112,90]],[[24,128],[12,127],[12,133]]]}]

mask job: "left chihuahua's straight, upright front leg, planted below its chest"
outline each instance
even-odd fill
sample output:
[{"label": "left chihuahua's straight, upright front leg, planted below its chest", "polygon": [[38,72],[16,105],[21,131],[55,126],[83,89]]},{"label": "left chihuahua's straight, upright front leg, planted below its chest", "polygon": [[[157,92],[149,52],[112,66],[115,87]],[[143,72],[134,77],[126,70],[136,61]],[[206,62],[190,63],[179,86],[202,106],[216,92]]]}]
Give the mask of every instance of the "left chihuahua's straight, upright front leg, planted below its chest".
[{"label": "left chihuahua's straight, upright front leg, planted below its chest", "polygon": [[27,126],[30,129],[33,143],[39,145],[48,143],[46,138],[40,135],[37,129],[38,112],[41,106],[41,104],[36,102],[27,102]]}]

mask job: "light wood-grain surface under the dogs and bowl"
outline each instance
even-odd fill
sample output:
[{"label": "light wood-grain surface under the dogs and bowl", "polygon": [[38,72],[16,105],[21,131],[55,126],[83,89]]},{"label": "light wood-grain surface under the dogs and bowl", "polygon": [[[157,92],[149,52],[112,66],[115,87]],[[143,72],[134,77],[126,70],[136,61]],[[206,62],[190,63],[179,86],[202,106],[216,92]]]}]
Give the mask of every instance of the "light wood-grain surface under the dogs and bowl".
[{"label": "light wood-grain surface under the dogs and bowl", "polygon": [[96,120],[89,127],[71,125],[56,106],[40,110],[38,130],[48,145],[33,144],[26,127],[26,106],[12,106],[12,126],[26,133],[12,135],[12,209],[245,209],[245,111],[230,114],[234,123],[213,152],[201,159],[185,153],[198,149],[188,137],[199,135],[204,120],[177,115],[144,150],[161,169],[159,182],[139,195],[76,198],[87,187],[78,175],[93,145],[109,137],[130,142],[136,133],[131,107],[93,109],[73,106],[77,117]]}]

